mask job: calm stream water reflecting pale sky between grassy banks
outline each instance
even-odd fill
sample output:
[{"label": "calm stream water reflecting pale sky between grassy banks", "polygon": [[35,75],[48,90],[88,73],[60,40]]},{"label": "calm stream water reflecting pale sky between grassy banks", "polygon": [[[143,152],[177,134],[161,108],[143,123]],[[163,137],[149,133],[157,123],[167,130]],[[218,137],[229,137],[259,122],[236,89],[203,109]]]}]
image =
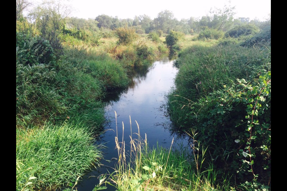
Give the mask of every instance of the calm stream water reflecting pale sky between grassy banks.
[{"label": "calm stream water reflecting pale sky between grassy banks", "polygon": [[[107,147],[107,149],[103,150],[105,153],[104,159],[111,160],[111,162],[101,160],[100,163],[103,165],[97,170],[87,173],[83,180],[78,183],[78,191],[91,191],[99,183],[98,176],[107,173],[107,171],[114,171],[112,168],[115,167],[116,160],[112,160],[112,158],[118,158],[118,153],[115,149],[115,111],[117,113],[118,137],[121,141],[124,134],[126,145],[129,145],[129,136],[131,135],[129,116],[131,116],[132,122],[132,138],[138,137],[134,134],[138,133],[136,120],[139,124],[141,137],[145,138],[146,134],[150,147],[156,146],[158,143],[162,147],[169,148],[173,137],[175,138],[175,147],[181,142],[187,145],[187,140],[171,135],[167,130],[170,120],[165,116],[166,113],[164,112],[165,94],[174,85],[174,78],[177,72],[178,70],[172,66],[172,61],[168,60],[168,58],[156,61],[146,72],[134,73],[129,88],[114,96],[113,99],[115,101],[111,101],[106,107],[106,116],[110,123],[107,125],[107,131],[100,142]],[[124,124],[124,133],[122,122]],[[126,150],[129,149],[127,148]],[[113,186],[106,186],[108,187],[106,190],[116,190]]]}]

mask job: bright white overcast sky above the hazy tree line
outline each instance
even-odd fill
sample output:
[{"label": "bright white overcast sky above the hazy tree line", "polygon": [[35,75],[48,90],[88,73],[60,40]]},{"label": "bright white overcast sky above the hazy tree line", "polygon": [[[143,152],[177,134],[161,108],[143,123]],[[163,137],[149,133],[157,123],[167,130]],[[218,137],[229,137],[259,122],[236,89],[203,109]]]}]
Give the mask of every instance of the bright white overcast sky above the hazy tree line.
[{"label": "bright white overcast sky above the hazy tree line", "polygon": [[[40,1],[41,0],[36,0]],[[210,8],[223,8],[229,4],[227,0],[69,0],[68,3],[75,11],[71,16],[78,18],[95,18],[106,14],[120,19],[133,19],[135,15],[148,15],[151,19],[157,17],[163,10],[170,10],[178,20],[205,16]],[[238,17],[249,17],[250,20],[257,17],[264,21],[268,13],[271,13],[271,0],[231,0],[231,6],[235,6]]]}]

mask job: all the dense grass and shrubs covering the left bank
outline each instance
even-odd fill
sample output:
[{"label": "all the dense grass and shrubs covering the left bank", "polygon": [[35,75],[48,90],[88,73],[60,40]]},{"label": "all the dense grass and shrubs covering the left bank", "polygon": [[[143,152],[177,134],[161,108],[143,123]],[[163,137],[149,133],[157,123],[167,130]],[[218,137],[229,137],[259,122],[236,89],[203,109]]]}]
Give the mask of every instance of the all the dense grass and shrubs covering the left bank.
[{"label": "all the dense grass and shrubs covering the left bank", "polygon": [[56,34],[49,26],[31,26],[24,20],[16,27],[16,189],[55,190],[99,163],[93,143],[103,132],[107,92],[127,87],[129,70],[168,49],[145,37],[100,41],[67,29],[48,41]]}]

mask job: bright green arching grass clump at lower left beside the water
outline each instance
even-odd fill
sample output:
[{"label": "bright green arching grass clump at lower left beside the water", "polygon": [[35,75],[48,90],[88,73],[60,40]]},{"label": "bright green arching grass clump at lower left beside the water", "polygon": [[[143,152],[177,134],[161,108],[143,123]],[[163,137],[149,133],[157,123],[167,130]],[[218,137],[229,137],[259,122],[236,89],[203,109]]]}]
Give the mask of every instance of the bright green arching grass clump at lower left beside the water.
[{"label": "bright green arching grass clump at lower left beside the water", "polygon": [[[93,135],[77,125],[44,124],[33,129],[16,129],[16,188],[21,181],[36,177],[26,188],[55,190],[83,175],[102,157]],[[22,190],[22,189],[20,189]]]}]

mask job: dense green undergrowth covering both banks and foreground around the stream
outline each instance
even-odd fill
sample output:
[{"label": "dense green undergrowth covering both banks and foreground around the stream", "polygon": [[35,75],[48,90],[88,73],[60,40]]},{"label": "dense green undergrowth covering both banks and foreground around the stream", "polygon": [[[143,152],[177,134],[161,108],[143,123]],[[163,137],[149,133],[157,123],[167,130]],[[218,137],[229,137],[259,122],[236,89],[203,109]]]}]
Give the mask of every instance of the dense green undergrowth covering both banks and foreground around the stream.
[{"label": "dense green undergrowth covering both banks and foreground around the stream", "polygon": [[102,157],[94,141],[108,92],[169,52],[179,56],[172,130],[187,133],[191,148],[149,149],[138,134],[128,156],[116,138],[109,181],[137,191],[271,187],[271,26],[139,35],[137,27],[66,28],[45,13],[33,24],[16,17],[16,190],[73,190]]}]

